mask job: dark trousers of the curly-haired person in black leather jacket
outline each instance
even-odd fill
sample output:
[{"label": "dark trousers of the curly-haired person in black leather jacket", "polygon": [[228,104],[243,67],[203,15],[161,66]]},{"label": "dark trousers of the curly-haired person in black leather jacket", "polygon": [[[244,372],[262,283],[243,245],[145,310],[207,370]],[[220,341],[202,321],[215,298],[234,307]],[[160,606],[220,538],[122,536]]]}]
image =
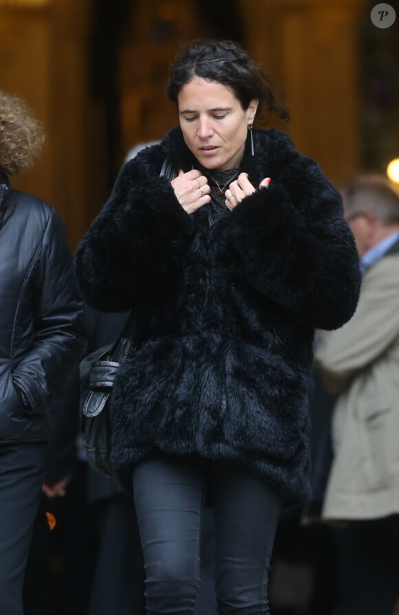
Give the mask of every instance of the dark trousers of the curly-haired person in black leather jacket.
[{"label": "dark trousers of the curly-haired person in black leather jacket", "polygon": [[0,444],[0,613],[4,615],[23,615],[23,577],[46,446],[45,442]]}]

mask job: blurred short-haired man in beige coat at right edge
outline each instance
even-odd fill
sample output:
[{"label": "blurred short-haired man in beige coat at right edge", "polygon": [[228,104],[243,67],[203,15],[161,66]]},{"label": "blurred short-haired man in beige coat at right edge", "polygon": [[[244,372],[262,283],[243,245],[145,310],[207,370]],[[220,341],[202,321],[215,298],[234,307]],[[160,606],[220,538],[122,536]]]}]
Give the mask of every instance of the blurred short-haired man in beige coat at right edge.
[{"label": "blurred short-haired man in beige coat at right edge", "polygon": [[319,367],[338,395],[323,517],[336,530],[334,615],[391,615],[399,595],[399,197],[359,177],[343,191],[363,285],[340,330],[320,332]]}]

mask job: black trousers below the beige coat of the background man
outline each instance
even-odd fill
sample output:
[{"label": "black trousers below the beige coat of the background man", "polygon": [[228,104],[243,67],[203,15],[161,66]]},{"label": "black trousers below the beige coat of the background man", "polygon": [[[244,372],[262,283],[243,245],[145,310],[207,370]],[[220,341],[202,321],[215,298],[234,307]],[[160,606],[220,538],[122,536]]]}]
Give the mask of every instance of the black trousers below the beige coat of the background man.
[{"label": "black trousers below the beige coat of the background man", "polygon": [[335,528],[334,615],[392,615],[399,596],[399,515]]}]

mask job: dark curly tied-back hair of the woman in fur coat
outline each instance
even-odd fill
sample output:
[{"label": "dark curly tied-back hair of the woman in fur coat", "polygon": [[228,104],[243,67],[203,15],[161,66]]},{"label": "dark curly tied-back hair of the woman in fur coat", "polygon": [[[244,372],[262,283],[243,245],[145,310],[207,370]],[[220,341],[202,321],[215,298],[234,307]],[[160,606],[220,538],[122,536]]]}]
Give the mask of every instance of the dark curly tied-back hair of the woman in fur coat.
[{"label": "dark curly tied-back hair of the woman in fur coat", "polygon": [[233,41],[209,41],[196,39],[184,43],[180,54],[171,65],[167,94],[177,105],[177,97],[185,83],[193,77],[222,83],[233,91],[241,107],[248,109],[250,100],[259,100],[257,116],[268,120],[274,111],[288,121],[290,114],[282,102],[282,96],[274,94],[276,86],[270,77]]}]

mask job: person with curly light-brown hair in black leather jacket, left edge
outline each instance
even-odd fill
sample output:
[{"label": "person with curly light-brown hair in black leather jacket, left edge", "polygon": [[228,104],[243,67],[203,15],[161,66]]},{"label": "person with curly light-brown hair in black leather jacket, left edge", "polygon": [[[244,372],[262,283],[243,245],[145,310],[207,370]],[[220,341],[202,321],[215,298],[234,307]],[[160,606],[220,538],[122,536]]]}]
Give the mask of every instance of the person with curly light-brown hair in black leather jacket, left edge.
[{"label": "person with curly light-brown hair in black leather jacket, left edge", "polygon": [[45,471],[45,413],[83,354],[85,316],[65,226],[8,175],[31,166],[43,130],[0,90],[0,613],[23,613],[21,590]]}]

